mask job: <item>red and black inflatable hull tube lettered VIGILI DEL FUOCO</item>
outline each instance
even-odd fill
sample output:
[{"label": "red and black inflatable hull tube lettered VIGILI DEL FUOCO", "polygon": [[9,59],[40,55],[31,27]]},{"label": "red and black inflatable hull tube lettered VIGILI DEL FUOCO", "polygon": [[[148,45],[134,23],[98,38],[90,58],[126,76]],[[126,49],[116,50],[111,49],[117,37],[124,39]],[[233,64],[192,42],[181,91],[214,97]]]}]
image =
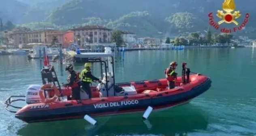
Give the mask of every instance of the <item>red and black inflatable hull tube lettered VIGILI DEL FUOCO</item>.
[{"label": "red and black inflatable hull tube lettered VIGILI DEL FUOCO", "polygon": [[15,117],[27,123],[33,123],[81,119],[84,115],[98,117],[143,112],[148,106],[153,107],[154,110],[161,110],[188,103],[191,99],[207,91],[210,87],[211,80],[208,77],[202,77],[200,82],[198,81],[193,86],[184,85],[183,88],[188,88],[187,90],[176,88],[162,92],[131,96],[115,96],[103,99],[92,98],[90,100],[80,101],[68,100],[51,104],[37,103],[26,105],[15,113]]}]

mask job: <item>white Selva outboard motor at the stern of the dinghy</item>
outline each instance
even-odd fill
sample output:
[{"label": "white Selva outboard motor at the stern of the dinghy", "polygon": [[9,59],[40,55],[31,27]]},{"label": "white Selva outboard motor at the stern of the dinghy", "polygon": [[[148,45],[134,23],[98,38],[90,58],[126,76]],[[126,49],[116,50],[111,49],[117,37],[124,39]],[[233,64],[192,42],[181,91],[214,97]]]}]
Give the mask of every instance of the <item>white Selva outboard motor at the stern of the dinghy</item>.
[{"label": "white Selva outboard motor at the stern of the dinghy", "polygon": [[26,90],[26,103],[32,104],[32,103],[40,103],[41,98],[39,96],[39,90],[41,88],[41,85],[33,84],[30,85]]}]

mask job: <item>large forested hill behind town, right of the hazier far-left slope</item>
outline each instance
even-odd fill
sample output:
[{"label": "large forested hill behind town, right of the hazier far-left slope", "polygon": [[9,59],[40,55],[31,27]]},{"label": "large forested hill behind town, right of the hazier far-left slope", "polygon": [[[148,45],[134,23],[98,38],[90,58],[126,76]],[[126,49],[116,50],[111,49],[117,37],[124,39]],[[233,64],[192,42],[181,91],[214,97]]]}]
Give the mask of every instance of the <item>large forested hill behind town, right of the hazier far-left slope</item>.
[{"label": "large forested hill behind town, right of the hazier far-left slope", "polygon": [[[245,13],[250,13],[247,27],[256,27],[256,1],[235,2],[242,14],[238,21],[242,23]],[[48,20],[57,25],[94,22],[139,33],[147,31],[142,27],[148,27],[150,33],[202,31],[209,27],[208,13],[215,16],[217,10],[222,10],[222,3],[223,0],[73,0],[56,8]],[[215,19],[218,21],[216,16]]]}]

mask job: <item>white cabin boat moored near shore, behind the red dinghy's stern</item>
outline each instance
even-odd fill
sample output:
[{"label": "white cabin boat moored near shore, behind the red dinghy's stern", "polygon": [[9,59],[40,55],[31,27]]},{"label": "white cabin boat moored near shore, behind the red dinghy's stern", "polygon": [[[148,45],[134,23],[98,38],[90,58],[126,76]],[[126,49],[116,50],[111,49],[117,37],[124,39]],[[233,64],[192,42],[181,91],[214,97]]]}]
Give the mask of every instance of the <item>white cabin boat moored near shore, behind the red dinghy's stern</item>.
[{"label": "white cabin boat moored near shore, behind the red dinghy's stern", "polygon": [[46,51],[49,58],[52,58],[53,56],[60,54],[59,48],[47,48],[46,45],[36,45],[33,47],[32,50],[30,50],[30,53],[28,54],[28,58],[29,59],[43,58],[44,50]]}]

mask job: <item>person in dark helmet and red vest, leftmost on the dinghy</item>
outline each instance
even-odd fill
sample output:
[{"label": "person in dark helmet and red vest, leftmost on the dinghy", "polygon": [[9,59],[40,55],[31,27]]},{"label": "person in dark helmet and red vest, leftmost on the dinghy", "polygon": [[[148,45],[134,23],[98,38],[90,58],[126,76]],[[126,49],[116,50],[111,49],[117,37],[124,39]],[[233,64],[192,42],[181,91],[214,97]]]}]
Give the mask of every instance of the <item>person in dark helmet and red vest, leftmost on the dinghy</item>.
[{"label": "person in dark helmet and red vest, leftmost on the dinghy", "polygon": [[72,88],[72,100],[81,100],[81,81],[79,79],[79,73],[74,71],[73,65],[67,65],[65,70],[69,73],[67,78],[68,84],[63,84],[63,86],[70,86]]}]

